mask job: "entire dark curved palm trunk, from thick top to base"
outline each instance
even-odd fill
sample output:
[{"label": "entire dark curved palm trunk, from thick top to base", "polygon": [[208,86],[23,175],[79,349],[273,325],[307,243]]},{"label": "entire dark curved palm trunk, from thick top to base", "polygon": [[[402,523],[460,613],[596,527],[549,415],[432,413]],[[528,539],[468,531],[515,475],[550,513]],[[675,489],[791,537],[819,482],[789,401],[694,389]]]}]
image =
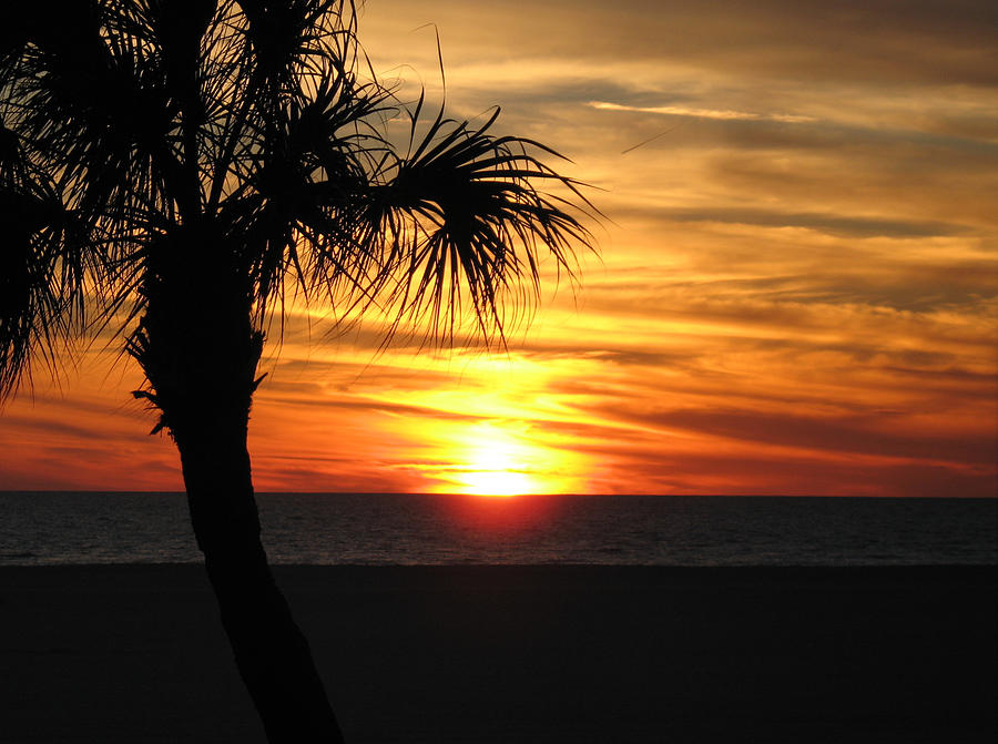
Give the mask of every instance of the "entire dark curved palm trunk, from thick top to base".
[{"label": "entire dark curved palm trunk, from thick top to base", "polygon": [[164,262],[146,277],[146,313],[129,350],[153,390],[138,395],[162,411],[157,428],[166,427],[180,450],[197,546],[267,740],[342,744],[308,643],[261,543],[246,432],[263,335],[234,272],[204,258],[202,265],[184,275]]}]

